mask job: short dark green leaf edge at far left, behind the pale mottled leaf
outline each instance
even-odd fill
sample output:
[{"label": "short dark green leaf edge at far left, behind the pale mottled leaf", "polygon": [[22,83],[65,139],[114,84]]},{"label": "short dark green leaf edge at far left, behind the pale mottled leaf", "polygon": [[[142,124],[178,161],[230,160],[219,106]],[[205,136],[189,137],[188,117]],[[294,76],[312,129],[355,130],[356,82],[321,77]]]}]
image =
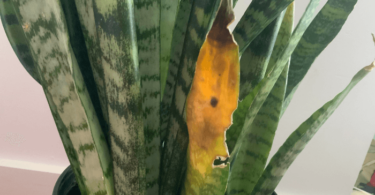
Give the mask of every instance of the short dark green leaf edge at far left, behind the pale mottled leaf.
[{"label": "short dark green leaf edge at far left, behind the pale mottled leaf", "polygon": [[16,16],[17,13],[19,14],[19,10],[12,6],[11,1],[0,1],[0,19],[10,45],[26,71],[40,84],[37,65],[31,55],[22,24]]}]

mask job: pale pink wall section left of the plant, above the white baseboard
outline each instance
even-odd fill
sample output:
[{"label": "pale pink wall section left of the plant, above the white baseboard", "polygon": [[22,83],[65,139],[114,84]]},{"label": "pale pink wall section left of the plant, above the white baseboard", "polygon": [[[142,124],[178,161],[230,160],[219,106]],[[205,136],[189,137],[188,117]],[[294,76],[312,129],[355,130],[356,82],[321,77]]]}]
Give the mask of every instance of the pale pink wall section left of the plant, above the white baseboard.
[{"label": "pale pink wall section left of the plant, above the white baseboard", "polygon": [[2,25],[0,25],[1,159],[58,166],[69,164],[42,87],[20,64]]}]

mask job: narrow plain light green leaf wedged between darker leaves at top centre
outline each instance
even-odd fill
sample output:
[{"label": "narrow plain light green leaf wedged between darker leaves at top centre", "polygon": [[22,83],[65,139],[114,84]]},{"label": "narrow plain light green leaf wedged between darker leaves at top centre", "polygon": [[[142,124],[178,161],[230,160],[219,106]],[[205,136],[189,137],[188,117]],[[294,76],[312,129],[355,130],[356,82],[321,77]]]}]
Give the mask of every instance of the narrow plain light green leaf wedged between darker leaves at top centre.
[{"label": "narrow plain light green leaf wedged between darker leaves at top centre", "polygon": [[172,35],[181,0],[160,0],[160,84],[161,99],[167,82]]}]

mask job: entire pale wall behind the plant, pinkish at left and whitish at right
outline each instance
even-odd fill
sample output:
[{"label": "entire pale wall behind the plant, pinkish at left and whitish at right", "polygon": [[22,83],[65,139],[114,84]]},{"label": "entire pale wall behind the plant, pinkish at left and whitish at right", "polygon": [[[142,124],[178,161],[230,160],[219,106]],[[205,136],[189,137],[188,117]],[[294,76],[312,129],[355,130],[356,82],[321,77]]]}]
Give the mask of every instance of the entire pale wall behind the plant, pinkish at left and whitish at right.
[{"label": "entire pale wall behind the plant, pinkish at left and whitish at right", "polygon": [[[249,3],[239,0],[236,13],[242,15]],[[296,1],[297,19],[307,3]],[[315,61],[280,122],[271,155],[374,60],[374,7],[373,0],[359,0],[340,34]],[[288,170],[279,194],[350,194],[375,133],[374,84],[372,73],[352,90]],[[69,163],[42,88],[19,63],[0,28],[0,166],[4,159],[61,167]]]}]

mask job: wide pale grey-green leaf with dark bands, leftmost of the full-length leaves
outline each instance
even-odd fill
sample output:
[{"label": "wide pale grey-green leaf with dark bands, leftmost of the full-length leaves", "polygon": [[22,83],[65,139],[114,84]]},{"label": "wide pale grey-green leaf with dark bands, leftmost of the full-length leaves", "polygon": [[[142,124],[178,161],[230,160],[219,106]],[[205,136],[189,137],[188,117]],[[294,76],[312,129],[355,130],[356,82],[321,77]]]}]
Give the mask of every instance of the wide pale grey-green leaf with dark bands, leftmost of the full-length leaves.
[{"label": "wide pale grey-green leaf with dark bands, leftmost of the full-length leaves", "polygon": [[[114,194],[111,157],[58,0],[14,0],[82,194]],[[33,12],[35,8],[38,12]]]}]

